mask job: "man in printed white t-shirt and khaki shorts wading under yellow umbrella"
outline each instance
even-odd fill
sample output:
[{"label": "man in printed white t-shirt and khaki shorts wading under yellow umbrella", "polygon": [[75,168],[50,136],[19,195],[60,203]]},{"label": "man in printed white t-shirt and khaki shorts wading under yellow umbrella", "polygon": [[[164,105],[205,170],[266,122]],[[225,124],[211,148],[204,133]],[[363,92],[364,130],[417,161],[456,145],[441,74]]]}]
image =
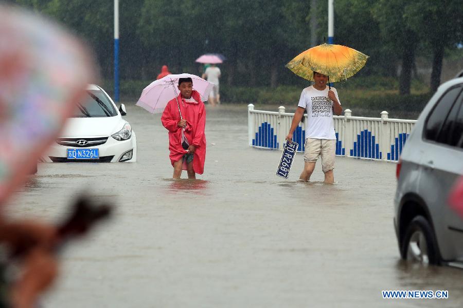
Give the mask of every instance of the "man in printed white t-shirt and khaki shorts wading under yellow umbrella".
[{"label": "man in printed white t-shirt and khaki shorts wading under yellow umbrella", "polygon": [[299,180],[309,181],[318,156],[322,157],[322,170],[325,183],[334,183],[334,155],[336,135],[334,133],[333,113],[341,115],[343,108],[335,88],[327,87],[328,76],[313,72],[315,84],[302,90],[299,104],[294,113],[291,128],[286,137],[292,140],[293,132],[307,110],[304,170]]}]

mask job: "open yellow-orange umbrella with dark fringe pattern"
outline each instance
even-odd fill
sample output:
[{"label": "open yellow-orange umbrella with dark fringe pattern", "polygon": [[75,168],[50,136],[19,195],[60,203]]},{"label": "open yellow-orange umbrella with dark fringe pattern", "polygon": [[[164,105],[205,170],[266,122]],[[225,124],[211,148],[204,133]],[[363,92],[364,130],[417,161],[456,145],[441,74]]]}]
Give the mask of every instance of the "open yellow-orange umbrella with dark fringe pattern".
[{"label": "open yellow-orange umbrella with dark fringe pattern", "polygon": [[353,76],[368,59],[366,54],[343,45],[322,44],[298,54],[286,67],[310,81],[313,72],[328,75],[330,82]]}]

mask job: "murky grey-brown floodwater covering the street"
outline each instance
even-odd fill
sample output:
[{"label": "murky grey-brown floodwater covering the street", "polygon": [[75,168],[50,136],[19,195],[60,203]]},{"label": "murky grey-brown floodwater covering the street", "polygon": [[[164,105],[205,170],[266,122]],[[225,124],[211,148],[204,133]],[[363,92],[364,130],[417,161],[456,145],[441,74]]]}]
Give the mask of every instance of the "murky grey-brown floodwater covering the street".
[{"label": "murky grey-brown floodwater covering the street", "polygon": [[[59,221],[79,192],[113,219],[62,253],[44,307],[460,307],[460,269],[400,261],[395,164],[336,158],[310,183],[275,176],[281,152],[247,146],[245,105],[207,106],[205,173],[173,181],[160,115],[126,105],[137,163],[40,164],[13,217]],[[273,110],[269,109],[269,110]],[[183,177],[186,177],[184,171]],[[448,299],[383,299],[447,290]]]}]

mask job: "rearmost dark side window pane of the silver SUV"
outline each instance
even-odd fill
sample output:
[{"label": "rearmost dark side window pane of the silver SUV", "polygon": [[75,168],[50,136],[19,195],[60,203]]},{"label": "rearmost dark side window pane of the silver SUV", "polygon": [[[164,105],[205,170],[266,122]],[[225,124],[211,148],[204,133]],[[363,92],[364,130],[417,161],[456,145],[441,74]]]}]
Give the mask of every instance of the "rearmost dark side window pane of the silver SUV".
[{"label": "rearmost dark side window pane of the silver SUV", "polygon": [[425,139],[437,141],[437,137],[439,136],[442,125],[448,118],[449,112],[460,92],[461,85],[451,88],[449,91],[442,95],[439,102],[431,111],[431,114],[428,117],[428,121],[426,121],[424,128]]}]

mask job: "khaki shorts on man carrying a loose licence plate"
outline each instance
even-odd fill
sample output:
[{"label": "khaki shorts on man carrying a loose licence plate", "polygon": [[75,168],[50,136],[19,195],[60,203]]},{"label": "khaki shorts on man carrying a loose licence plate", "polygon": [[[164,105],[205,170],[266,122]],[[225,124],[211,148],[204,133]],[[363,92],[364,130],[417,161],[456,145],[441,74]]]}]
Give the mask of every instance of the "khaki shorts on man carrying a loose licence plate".
[{"label": "khaki shorts on man carrying a loose licence plate", "polygon": [[334,169],[336,140],[306,138],[304,161],[316,163],[318,156],[322,157],[322,171]]}]

